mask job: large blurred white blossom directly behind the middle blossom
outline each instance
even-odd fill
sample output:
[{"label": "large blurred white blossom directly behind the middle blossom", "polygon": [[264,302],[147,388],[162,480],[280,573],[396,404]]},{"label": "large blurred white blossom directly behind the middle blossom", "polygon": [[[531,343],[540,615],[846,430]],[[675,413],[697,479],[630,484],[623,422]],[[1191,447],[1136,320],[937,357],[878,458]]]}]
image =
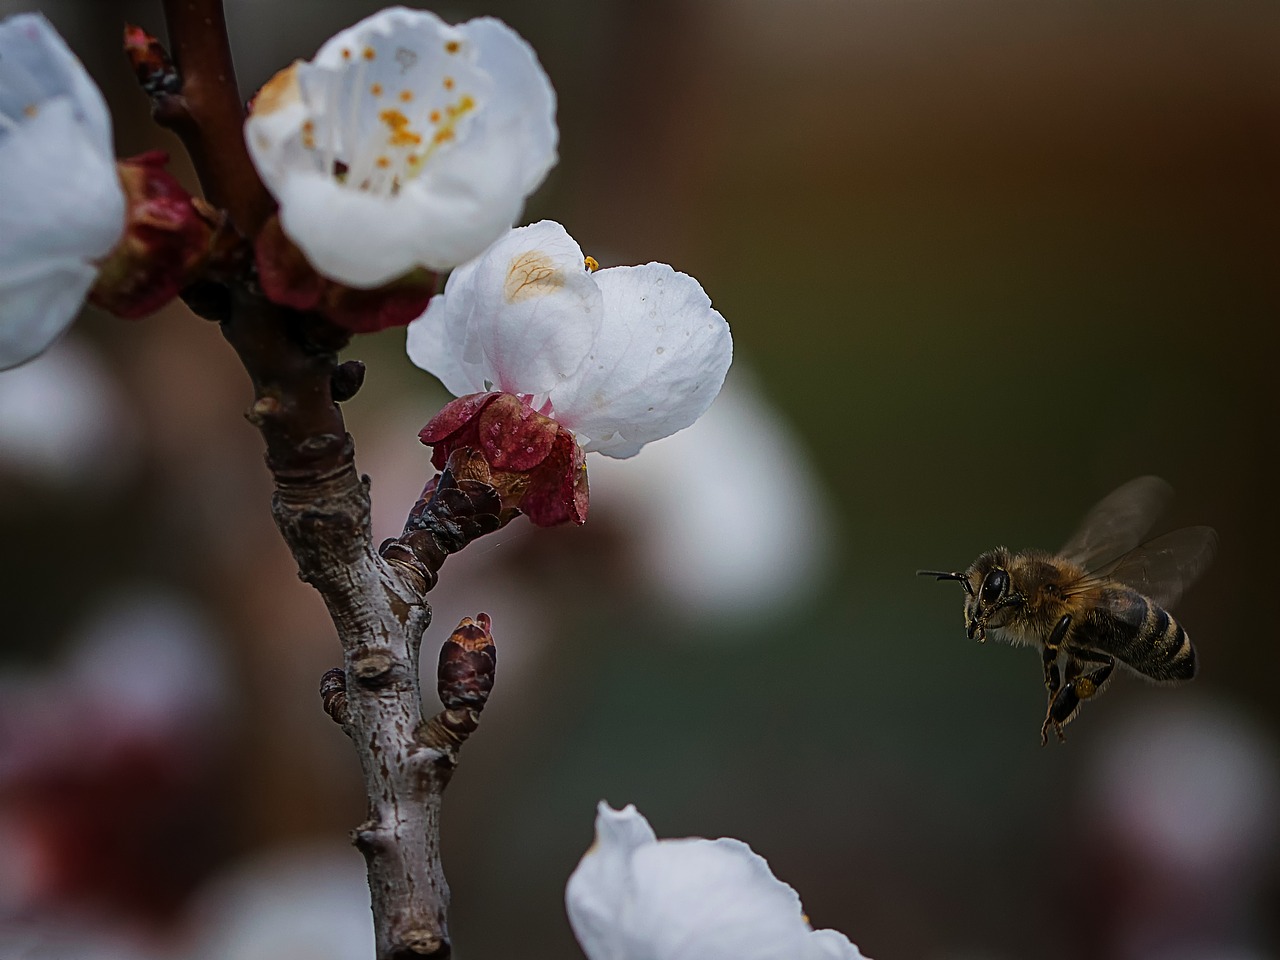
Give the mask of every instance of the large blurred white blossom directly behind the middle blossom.
[{"label": "large blurred white blossom directly behind the middle blossom", "polygon": [[[732,484],[726,463],[739,465]],[[824,579],[832,512],[818,471],[741,366],[696,424],[634,461],[593,463],[591,485],[600,498],[593,526],[621,536],[644,581],[691,617],[759,618]]]}]

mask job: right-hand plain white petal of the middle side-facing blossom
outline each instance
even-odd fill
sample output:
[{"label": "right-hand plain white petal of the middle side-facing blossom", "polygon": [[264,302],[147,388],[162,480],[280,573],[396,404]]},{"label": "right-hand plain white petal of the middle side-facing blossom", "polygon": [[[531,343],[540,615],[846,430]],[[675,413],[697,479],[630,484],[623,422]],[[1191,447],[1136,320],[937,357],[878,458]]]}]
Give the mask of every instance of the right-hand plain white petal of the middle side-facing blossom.
[{"label": "right-hand plain white petal of the middle side-facing blossom", "polygon": [[614,266],[594,279],[604,294],[600,335],[550,398],[585,449],[623,458],[707,411],[733,344],[698,280],[666,264]]}]

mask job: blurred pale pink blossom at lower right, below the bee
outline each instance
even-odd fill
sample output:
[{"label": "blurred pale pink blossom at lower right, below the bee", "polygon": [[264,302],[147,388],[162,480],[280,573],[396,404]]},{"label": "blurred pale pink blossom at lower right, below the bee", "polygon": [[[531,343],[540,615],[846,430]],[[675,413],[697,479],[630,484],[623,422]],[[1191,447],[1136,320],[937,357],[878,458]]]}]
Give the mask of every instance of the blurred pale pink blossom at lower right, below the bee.
[{"label": "blurred pale pink blossom at lower right, below the bee", "polygon": [[1275,956],[1263,943],[1280,850],[1277,756],[1268,732],[1225,701],[1190,696],[1117,718],[1065,838],[1075,876],[1062,878],[1061,906],[1089,913],[1085,952]]}]

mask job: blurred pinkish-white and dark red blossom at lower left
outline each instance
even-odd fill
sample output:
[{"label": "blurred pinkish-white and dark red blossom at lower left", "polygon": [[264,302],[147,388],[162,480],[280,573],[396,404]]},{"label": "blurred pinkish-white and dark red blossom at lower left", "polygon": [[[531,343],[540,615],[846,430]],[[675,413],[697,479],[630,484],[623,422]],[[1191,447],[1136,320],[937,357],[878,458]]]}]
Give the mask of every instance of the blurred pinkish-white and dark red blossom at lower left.
[{"label": "blurred pinkish-white and dark red blossom at lower left", "polygon": [[0,919],[172,915],[211,855],[225,696],[209,623],[166,594],[119,600],[55,671],[0,673]]}]

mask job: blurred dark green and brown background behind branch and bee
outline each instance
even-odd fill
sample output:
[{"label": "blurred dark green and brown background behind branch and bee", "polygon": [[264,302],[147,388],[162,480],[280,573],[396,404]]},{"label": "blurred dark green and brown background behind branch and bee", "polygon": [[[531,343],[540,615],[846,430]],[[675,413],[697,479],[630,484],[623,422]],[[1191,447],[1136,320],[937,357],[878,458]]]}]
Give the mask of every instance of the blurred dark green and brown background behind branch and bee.
[{"label": "blurred dark green and brown background behind branch and bee", "polygon": [[[116,54],[157,3],[42,9],[122,155],[172,150]],[[228,0],[247,96],[378,9]],[[659,260],[730,320],[710,415],[593,458],[584,529],[443,570],[494,617],[444,806],[463,960],[579,956],[594,805],[735,836],[878,960],[1280,956],[1280,6],[1260,0],[493,0],[559,96],[527,220]],[[346,404],[379,535],[445,394],[403,333]],[[86,311],[0,376],[0,957],[371,956],[339,662],[271,526],[216,328]],[[1120,676],[1041,749],[1030,650],[913,576],[1055,548],[1119,484],[1219,558],[1188,687]],[[430,660],[428,655],[424,659]],[[429,685],[430,678],[429,678]]]}]

